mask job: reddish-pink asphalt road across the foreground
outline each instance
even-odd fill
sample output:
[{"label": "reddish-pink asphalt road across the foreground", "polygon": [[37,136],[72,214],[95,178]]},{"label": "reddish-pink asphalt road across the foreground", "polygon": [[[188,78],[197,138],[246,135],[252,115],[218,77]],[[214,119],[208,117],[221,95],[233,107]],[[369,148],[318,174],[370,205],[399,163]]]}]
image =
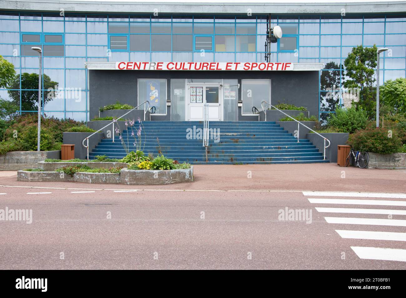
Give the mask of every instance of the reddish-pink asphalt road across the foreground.
[{"label": "reddish-pink asphalt road across the foreground", "polygon": [[[28,188],[24,185],[37,184],[11,187],[12,181],[13,176],[2,179],[2,185],[10,183],[0,189],[0,209],[32,209],[32,223],[0,221],[1,269],[404,269],[406,264],[405,194],[255,191],[238,189],[238,181],[229,181],[229,190],[212,182],[206,190],[185,191],[179,184],[117,192],[112,188],[118,186],[67,182],[61,189]],[[361,201],[343,201],[348,199]],[[281,220],[289,219],[281,216],[286,208],[288,215],[304,210],[308,217]],[[354,238],[343,238],[348,235]],[[382,237],[393,240],[376,239]]]}]

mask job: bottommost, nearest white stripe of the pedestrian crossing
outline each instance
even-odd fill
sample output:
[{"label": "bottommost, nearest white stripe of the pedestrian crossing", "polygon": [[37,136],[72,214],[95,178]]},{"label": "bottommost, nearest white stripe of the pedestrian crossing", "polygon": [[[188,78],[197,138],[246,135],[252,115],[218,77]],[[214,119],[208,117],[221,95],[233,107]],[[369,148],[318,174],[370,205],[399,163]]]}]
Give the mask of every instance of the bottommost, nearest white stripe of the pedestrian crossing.
[{"label": "bottommost, nearest white stripe of the pedestrian crossing", "polygon": [[352,250],[361,259],[406,262],[406,249],[352,246]]}]

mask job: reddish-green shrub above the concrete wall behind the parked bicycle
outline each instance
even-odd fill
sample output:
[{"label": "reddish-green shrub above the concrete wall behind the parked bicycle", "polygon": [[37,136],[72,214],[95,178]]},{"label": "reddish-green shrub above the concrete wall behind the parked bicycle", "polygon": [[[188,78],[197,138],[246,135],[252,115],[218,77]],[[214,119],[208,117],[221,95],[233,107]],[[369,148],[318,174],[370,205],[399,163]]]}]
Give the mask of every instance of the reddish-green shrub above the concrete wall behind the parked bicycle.
[{"label": "reddish-green shrub above the concrete wall behind the parked bicycle", "polygon": [[348,137],[347,144],[359,151],[369,151],[380,154],[400,152],[402,141],[392,134],[389,137],[388,129],[367,127],[352,133]]}]

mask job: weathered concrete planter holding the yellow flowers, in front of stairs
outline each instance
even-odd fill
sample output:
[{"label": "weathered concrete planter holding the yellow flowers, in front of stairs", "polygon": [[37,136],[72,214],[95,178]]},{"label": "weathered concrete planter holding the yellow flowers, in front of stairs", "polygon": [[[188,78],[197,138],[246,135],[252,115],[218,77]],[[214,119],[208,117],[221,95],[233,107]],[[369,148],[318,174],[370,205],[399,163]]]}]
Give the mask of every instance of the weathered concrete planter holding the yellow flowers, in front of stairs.
[{"label": "weathered concrete planter holding the yellow flowers, in front of stairs", "polygon": [[193,166],[190,169],[174,170],[129,170],[120,172],[121,184],[151,185],[193,181]]}]

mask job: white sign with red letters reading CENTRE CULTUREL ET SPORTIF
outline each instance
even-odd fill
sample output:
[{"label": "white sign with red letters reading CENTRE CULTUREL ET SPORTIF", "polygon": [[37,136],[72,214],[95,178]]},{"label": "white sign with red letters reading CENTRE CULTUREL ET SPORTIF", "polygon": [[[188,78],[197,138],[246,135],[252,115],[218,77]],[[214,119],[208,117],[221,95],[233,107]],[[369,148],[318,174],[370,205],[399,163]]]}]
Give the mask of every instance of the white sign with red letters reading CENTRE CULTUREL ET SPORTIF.
[{"label": "white sign with red letters reading CENTRE CULTUREL ET SPORTIF", "polygon": [[118,70],[292,71],[292,62],[116,62]]}]

